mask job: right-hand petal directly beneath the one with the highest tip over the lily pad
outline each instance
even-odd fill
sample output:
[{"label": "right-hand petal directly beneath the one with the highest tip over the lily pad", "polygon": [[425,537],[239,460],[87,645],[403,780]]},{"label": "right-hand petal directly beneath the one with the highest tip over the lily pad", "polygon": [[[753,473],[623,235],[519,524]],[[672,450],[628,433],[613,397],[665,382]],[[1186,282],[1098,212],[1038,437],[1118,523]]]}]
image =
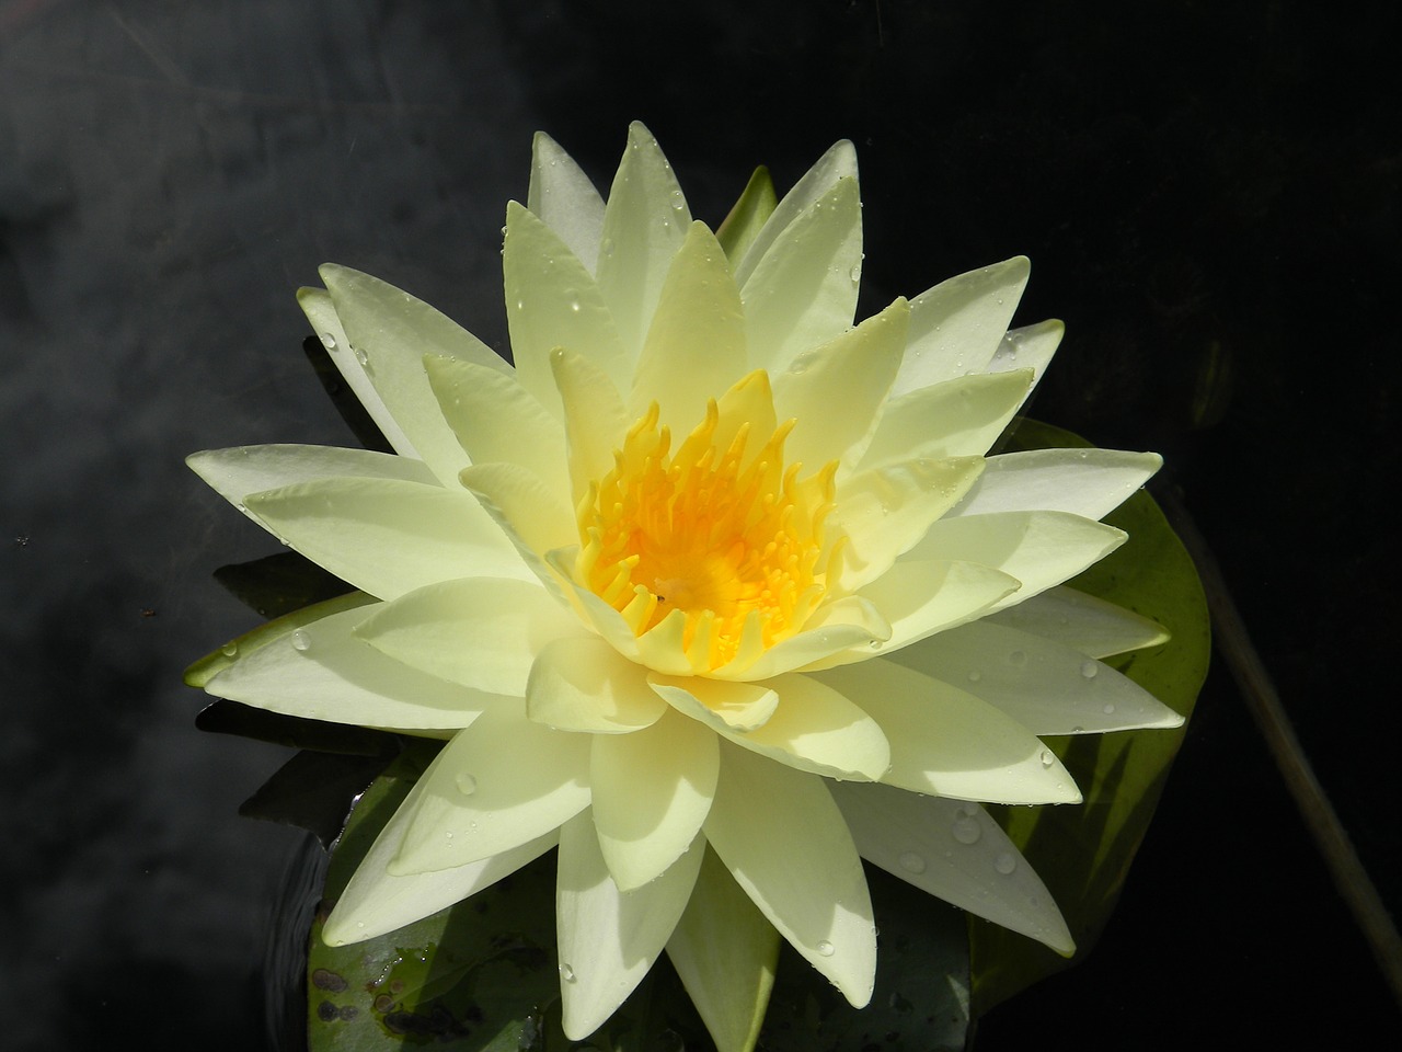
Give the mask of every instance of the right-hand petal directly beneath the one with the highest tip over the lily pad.
[{"label": "right-hand petal directly beneath the one with the highest tip over the lily pad", "polygon": [[925,539],[897,560],[892,574],[907,560],[935,557],[994,567],[1022,582],[998,602],[995,609],[1002,609],[1075,576],[1124,540],[1123,530],[1067,512],[962,515],[931,526]]}]

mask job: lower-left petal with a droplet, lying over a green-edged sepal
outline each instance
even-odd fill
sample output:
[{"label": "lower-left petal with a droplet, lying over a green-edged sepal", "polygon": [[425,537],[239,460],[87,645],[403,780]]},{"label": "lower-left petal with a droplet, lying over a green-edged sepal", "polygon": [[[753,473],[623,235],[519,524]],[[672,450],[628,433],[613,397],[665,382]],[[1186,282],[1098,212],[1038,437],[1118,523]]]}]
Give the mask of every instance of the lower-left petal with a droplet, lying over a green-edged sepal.
[{"label": "lower-left petal with a droplet, lying over a green-edged sepal", "polygon": [[444,683],[387,658],[352,633],[383,603],[289,626],[234,655],[206,690],[271,713],[397,729],[467,727],[495,694]]}]

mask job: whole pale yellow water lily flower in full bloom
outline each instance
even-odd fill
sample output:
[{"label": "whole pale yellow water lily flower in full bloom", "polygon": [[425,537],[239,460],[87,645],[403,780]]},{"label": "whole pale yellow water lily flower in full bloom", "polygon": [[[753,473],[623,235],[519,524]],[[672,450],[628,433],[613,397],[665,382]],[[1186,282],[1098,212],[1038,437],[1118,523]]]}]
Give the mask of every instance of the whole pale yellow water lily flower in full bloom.
[{"label": "whole pale yellow water lily flower in full bloom", "polygon": [[324,937],[558,846],[573,1038],[663,950],[723,1049],[753,1046],[780,937],[864,1006],[864,858],[1070,952],[980,802],[1080,800],[1040,735],[1180,722],[1099,661],[1162,630],[1063,585],[1159,459],[987,456],[1061,337],[1008,331],[1026,259],[854,324],[852,146],[746,202],[719,237],[693,220],[641,125],[604,201],[538,135],[506,215],[515,365],[325,267],[301,306],[397,456],[189,460],[358,589],[207,690],[447,738]]}]

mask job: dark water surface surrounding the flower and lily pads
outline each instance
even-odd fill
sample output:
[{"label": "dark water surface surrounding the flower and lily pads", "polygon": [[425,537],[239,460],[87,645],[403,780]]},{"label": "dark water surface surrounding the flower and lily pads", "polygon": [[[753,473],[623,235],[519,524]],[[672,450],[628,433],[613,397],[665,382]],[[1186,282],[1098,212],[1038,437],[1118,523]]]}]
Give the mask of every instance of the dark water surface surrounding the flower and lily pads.
[{"label": "dark water surface surrounding the flower and lily pads", "polygon": [[[851,137],[864,313],[1032,257],[1035,415],[1165,453],[1395,905],[1395,10],[0,0],[0,1045],[266,1044],[307,856],[236,811],[286,753],[196,732],[179,672],[257,623],[212,571],[275,546],[182,457],[349,442],[299,346],[322,261],[501,348],[531,132],[607,182],[634,118],[712,224]],[[1217,661],[1101,945],[979,1048],[1399,1021]]]}]

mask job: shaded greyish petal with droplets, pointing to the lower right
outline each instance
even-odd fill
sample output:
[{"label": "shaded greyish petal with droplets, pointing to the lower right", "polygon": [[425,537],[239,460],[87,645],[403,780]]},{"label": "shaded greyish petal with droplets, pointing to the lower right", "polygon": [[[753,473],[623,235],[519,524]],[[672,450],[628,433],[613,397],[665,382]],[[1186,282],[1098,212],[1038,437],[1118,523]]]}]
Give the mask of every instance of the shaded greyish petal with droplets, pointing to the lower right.
[{"label": "shaded greyish petal with droplets, pointing to the lower right", "polygon": [[1064,957],[1075,950],[1042,878],[977,804],[890,785],[831,785],[831,793],[866,861]]}]

